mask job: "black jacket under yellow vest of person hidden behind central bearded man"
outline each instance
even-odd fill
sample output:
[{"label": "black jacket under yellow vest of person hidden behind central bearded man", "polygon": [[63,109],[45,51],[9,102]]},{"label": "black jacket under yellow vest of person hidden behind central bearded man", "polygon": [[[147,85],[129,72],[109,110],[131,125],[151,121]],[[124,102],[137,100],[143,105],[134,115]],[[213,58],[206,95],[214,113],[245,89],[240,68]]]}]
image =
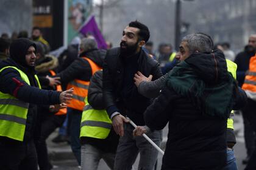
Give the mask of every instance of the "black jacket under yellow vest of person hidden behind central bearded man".
[{"label": "black jacket under yellow vest of person hidden behind central bearded man", "polygon": [[[91,77],[88,89],[88,103],[93,107],[93,109],[105,109],[102,97],[102,70],[94,73],[93,77]],[[118,139],[119,136],[116,135],[112,128],[110,134],[108,134],[108,137],[105,139],[82,137],[81,143],[91,144],[104,152],[115,153],[118,146]]]}]

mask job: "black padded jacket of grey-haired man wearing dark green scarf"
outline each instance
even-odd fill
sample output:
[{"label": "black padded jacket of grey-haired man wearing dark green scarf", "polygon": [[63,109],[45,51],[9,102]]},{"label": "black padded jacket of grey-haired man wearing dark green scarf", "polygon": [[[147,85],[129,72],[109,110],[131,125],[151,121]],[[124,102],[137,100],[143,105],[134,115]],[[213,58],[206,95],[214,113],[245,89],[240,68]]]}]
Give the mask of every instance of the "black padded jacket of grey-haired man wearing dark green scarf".
[{"label": "black padded jacket of grey-haired man wearing dark green scarf", "polygon": [[[219,57],[222,60],[216,57],[216,61],[199,62],[202,59],[200,56],[190,56],[185,61],[201,75],[201,80],[215,84],[225,81],[221,77],[227,73],[224,55]],[[218,72],[215,69],[217,67]],[[238,102],[245,104],[246,100],[243,97],[241,99]],[[169,122],[162,169],[222,169],[226,165],[227,120],[203,114],[199,108],[188,98],[165,86],[144,112],[145,123],[152,130],[163,129]]]}]

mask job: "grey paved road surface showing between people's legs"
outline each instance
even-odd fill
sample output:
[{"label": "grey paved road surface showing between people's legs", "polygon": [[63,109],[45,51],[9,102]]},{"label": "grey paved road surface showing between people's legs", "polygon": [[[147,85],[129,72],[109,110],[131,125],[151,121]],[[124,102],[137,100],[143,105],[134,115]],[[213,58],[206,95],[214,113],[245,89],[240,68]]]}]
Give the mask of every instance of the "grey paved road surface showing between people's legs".
[{"label": "grey paved road surface showing between people's legs", "polygon": [[[243,158],[246,157],[246,151],[244,148],[244,139],[243,139],[243,120],[241,118],[241,115],[236,115],[235,117],[235,129],[236,129],[236,140],[238,143],[235,145],[235,155],[236,155],[236,160],[238,163],[238,169],[244,169],[244,165],[242,165],[241,161]],[[167,129],[165,129],[164,132],[164,137],[167,135]],[[158,155],[158,168],[160,169],[161,167],[161,162],[162,162],[162,155]],[[62,160],[62,161],[53,161],[53,165],[59,166],[56,168],[56,170],[75,170],[79,169],[77,168],[77,163],[75,160]],[[135,162],[134,169],[137,169],[138,167],[138,159]],[[104,161],[101,161],[99,165],[99,170],[108,170],[109,168],[105,164]]]}]

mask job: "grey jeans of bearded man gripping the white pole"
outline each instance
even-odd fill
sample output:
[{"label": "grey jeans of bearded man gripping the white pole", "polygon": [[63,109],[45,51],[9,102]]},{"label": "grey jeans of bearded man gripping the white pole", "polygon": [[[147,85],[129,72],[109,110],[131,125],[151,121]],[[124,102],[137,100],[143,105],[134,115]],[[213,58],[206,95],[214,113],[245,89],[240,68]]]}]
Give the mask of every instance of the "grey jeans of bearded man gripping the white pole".
[{"label": "grey jeans of bearded man gripping the white pole", "polygon": [[[158,151],[143,136],[133,137],[134,127],[124,123],[124,136],[119,138],[115,158],[115,170],[130,170],[140,152],[138,169],[153,170],[157,161]],[[162,131],[148,132],[148,137],[160,146]]]}]

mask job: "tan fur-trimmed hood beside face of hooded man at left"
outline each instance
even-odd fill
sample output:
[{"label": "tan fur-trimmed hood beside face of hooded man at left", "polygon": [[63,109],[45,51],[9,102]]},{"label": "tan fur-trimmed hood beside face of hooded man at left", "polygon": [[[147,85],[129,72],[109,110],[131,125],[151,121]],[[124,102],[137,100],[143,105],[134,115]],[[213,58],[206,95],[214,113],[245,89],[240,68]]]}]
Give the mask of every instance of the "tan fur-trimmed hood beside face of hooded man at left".
[{"label": "tan fur-trimmed hood beside face of hooded man at left", "polygon": [[51,55],[45,55],[44,58],[40,58],[36,63],[35,70],[38,73],[48,72],[59,65],[58,59]]}]

